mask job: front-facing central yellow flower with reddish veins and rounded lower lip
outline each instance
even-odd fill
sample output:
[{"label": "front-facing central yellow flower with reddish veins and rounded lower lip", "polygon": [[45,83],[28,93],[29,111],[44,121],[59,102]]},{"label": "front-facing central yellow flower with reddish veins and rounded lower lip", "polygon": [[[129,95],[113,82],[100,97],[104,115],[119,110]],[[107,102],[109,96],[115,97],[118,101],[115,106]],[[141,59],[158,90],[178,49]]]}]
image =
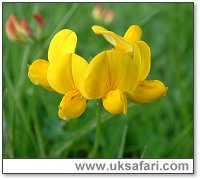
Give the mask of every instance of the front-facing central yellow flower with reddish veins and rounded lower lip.
[{"label": "front-facing central yellow flower with reddish veins and rounded lower lip", "polygon": [[129,55],[114,50],[95,56],[85,74],[85,97],[102,98],[107,111],[126,114],[127,96],[132,94],[138,83],[141,61],[139,48],[134,51],[133,60]]}]

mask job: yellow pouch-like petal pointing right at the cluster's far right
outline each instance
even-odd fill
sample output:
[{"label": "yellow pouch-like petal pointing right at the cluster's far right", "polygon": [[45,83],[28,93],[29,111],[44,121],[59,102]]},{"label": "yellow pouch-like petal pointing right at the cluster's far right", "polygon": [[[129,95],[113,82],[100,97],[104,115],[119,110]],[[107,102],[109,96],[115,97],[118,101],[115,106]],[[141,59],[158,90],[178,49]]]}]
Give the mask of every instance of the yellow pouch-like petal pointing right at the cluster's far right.
[{"label": "yellow pouch-like petal pointing right at the cluster's far right", "polygon": [[165,96],[167,89],[159,80],[140,81],[130,99],[136,103],[150,103]]}]

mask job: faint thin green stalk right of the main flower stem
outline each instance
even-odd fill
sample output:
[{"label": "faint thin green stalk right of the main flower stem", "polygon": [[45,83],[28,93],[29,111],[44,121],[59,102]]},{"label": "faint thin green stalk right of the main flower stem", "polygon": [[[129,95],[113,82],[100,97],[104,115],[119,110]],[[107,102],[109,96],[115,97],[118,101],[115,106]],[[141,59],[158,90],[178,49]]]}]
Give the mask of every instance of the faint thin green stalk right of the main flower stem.
[{"label": "faint thin green stalk right of the main flower stem", "polygon": [[120,143],[120,147],[119,147],[118,158],[123,158],[127,130],[128,130],[128,121],[127,121],[126,116],[125,116],[125,118],[123,118],[123,120],[124,120],[124,128],[123,128],[122,139],[121,139],[121,143]]}]

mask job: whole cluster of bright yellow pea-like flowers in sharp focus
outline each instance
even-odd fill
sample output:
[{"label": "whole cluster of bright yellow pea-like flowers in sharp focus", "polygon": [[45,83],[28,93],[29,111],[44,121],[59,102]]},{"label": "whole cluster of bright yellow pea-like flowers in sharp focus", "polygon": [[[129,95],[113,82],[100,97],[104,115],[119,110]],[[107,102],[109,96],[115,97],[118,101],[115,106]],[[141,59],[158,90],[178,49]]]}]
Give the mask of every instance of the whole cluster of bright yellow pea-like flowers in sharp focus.
[{"label": "whole cluster of bright yellow pea-like flowers in sharp focus", "polygon": [[91,99],[101,98],[112,114],[127,114],[127,99],[150,103],[166,94],[161,81],[146,80],[151,52],[140,40],[139,26],[130,26],[123,37],[96,25],[92,30],[114,47],[88,63],[75,53],[75,32],[63,29],[50,42],[48,61],[37,59],[29,66],[28,76],[34,84],[64,95],[58,110],[61,119],[80,116]]}]

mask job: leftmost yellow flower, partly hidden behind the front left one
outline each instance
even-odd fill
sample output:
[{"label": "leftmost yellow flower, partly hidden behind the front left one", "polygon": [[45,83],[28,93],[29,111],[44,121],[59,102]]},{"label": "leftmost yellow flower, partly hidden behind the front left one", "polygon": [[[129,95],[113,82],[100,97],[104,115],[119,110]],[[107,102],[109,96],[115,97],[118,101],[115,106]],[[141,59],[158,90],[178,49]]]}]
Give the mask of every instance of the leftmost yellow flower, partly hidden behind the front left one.
[{"label": "leftmost yellow flower, partly hidden behind the front left one", "polygon": [[76,42],[76,34],[69,29],[63,29],[56,33],[49,45],[48,61],[37,59],[29,66],[28,77],[32,83],[42,86],[45,89],[53,90],[47,80],[49,64],[56,60],[61,54],[74,53]]}]

